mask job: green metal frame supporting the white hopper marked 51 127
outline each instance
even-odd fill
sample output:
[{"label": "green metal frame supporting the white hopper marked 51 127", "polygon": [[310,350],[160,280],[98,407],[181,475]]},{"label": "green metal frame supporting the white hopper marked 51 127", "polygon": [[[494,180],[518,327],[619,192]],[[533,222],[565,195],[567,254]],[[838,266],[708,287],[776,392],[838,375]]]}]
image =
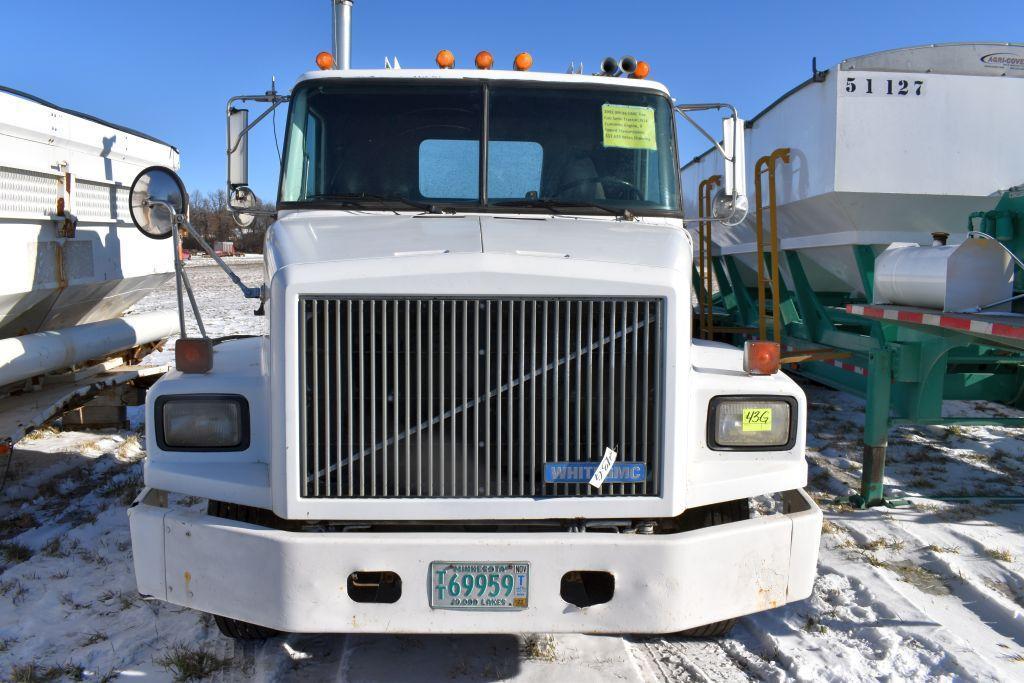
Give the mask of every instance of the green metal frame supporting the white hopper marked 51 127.
[{"label": "green metal frame supporting the white hopper marked 51 127", "polygon": [[[992,211],[972,214],[968,225],[969,230],[997,239],[1012,253],[1024,254],[1024,194],[1007,193]],[[981,399],[1024,409],[1024,318],[1009,318],[999,327],[992,326],[987,316],[870,306],[876,251],[870,245],[850,249],[866,293],[861,300],[814,291],[799,250],[776,246],[762,256],[770,271],[772,252],[777,253],[779,266],[788,274],[788,283],[778,281],[767,313],[780,317],[781,335],[776,341],[783,347],[783,358],[794,349],[812,355],[820,351],[822,359],[802,359],[793,365],[793,371],[866,401],[861,488],[852,502],[871,507],[887,503],[885,462],[892,427],[1024,426],[1022,418],[948,417],[942,411],[946,400]],[[763,328],[756,288],[743,285],[736,257],[712,254],[710,263],[719,290],[713,297],[715,327]],[[701,288],[699,295],[707,296],[699,273],[694,283]],[[1015,295],[1021,292],[1024,272],[1018,272],[1015,281]],[[949,324],[941,325],[943,319]],[[988,332],[979,332],[985,324]],[[738,345],[745,335],[729,332],[718,338]],[[798,355],[803,358],[807,353]]]}]

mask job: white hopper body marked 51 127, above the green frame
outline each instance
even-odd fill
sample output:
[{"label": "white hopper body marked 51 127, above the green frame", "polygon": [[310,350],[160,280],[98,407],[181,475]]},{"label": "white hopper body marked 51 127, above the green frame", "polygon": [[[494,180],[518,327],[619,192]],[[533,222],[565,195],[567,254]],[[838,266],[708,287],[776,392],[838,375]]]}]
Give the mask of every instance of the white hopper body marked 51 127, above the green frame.
[{"label": "white hopper body marked 51 127, above the green frame", "polygon": [[[851,245],[880,253],[894,242],[927,245],[935,230],[956,244],[969,213],[1024,184],[1022,116],[1022,44],[927,45],[841,61],[748,122],[751,215],[716,224],[714,242],[739,256],[753,284],[754,166],[790,147],[792,163],[776,175],[782,248],[800,250],[816,291],[863,294]],[[697,215],[700,181],[722,172],[717,154],[684,167],[687,217]]]}]

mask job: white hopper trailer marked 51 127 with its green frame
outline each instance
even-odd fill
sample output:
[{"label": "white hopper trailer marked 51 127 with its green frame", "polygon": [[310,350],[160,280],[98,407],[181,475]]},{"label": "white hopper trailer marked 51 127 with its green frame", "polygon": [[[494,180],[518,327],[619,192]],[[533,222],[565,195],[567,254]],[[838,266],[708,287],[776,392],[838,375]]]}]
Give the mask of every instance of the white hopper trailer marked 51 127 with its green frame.
[{"label": "white hopper trailer marked 51 127 with its green frame", "polygon": [[[943,414],[950,399],[1024,400],[1022,111],[1017,44],[904,48],[814,70],[748,122],[750,215],[699,223],[703,334],[776,339],[792,368],[867,398],[858,502],[884,500],[893,425],[1022,423]],[[710,215],[721,173],[713,154],[685,166],[688,216]]]}]

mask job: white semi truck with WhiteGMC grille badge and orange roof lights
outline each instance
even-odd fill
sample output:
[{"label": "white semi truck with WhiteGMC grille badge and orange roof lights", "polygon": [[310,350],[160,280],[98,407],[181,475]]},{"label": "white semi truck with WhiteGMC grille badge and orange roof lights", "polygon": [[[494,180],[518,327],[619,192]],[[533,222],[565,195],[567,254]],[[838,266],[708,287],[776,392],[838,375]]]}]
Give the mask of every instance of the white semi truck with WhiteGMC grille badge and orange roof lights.
[{"label": "white semi truck with WhiteGMC grille badge and orange roof lights", "polygon": [[[806,598],[804,394],[772,345],[694,339],[667,89],[631,59],[349,70],[351,3],[333,4],[321,71],[256,97],[290,102],[266,284],[234,279],[269,334],[179,341],[148,394],[139,591],[236,638],[714,636]],[[186,209],[170,171],[132,190],[151,236],[190,229]]]}]

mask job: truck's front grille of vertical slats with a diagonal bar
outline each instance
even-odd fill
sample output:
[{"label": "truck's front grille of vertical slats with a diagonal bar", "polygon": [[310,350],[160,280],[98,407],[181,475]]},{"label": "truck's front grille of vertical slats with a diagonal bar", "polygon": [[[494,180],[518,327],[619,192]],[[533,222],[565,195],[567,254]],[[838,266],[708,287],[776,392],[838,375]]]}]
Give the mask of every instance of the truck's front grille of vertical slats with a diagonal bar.
[{"label": "truck's front grille of vertical slats with a diagonal bar", "polygon": [[[663,299],[300,299],[303,498],[657,496]],[[646,464],[546,483],[545,463]]]}]

